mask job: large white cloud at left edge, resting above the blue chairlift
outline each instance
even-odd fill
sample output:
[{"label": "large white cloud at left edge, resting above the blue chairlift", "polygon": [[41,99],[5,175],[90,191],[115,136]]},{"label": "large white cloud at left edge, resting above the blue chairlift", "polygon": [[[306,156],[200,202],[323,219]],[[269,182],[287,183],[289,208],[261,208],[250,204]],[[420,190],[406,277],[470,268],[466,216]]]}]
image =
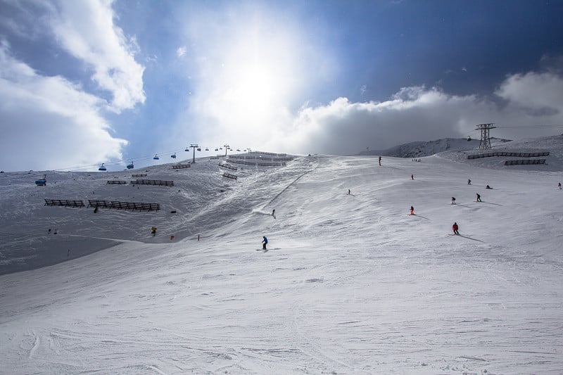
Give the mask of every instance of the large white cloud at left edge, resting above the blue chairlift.
[{"label": "large white cloud at left edge, resting above the blue chairlift", "polygon": [[111,136],[99,113],[105,104],[63,77],[38,75],[2,42],[0,165],[47,170],[120,160],[127,141]]}]

